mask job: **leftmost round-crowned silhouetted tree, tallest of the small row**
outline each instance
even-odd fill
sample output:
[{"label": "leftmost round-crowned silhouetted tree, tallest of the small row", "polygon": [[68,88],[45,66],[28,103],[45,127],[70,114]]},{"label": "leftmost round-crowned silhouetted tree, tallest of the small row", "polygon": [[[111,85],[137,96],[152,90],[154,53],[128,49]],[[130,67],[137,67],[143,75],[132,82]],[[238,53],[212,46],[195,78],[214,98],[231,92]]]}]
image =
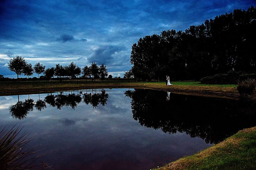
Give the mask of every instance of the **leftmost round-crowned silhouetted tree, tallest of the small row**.
[{"label": "leftmost round-crowned silhouetted tree, tallest of the small row", "polygon": [[8,69],[15,72],[17,74],[17,81],[19,80],[19,75],[24,73],[24,68],[26,67],[27,62],[22,57],[14,57],[10,59],[10,63],[8,64]]}]

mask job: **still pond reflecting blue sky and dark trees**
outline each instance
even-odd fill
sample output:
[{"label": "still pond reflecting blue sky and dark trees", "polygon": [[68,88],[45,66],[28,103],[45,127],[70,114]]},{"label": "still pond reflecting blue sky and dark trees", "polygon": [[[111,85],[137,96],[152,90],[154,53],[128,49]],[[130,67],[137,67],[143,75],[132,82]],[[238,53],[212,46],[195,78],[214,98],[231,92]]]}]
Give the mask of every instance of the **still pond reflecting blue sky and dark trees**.
[{"label": "still pond reflecting blue sky and dark trees", "polygon": [[255,104],[146,89],[0,96],[0,125],[36,135],[53,169],[151,169],[256,126]]}]

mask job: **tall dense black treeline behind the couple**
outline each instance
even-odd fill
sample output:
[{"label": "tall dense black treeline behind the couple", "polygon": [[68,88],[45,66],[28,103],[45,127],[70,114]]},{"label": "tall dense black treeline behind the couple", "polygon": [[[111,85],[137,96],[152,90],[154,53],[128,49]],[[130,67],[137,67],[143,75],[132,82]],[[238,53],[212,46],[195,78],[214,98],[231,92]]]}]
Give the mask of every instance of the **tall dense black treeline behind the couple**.
[{"label": "tall dense black treeline behind the couple", "polygon": [[144,80],[170,75],[200,79],[229,71],[256,70],[256,8],[236,9],[183,31],[167,30],[133,44],[133,67],[125,73]]}]

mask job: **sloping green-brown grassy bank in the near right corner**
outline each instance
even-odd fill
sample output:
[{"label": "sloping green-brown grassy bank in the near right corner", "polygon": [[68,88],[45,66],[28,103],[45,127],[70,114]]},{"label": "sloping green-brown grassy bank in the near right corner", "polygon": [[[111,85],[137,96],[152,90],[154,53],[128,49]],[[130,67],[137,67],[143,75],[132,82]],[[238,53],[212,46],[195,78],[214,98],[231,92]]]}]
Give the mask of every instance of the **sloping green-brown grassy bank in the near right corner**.
[{"label": "sloping green-brown grassy bank in the near right corner", "polygon": [[217,145],[157,170],[174,169],[256,169],[256,127],[241,130]]}]

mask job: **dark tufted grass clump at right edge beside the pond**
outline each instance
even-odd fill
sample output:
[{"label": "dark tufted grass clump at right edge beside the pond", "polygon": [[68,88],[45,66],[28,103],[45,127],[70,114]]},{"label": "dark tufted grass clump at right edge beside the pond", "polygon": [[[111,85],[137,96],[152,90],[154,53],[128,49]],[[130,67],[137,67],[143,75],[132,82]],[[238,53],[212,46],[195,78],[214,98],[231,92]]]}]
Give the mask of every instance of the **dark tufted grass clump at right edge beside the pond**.
[{"label": "dark tufted grass clump at right edge beside the pond", "polygon": [[238,82],[237,90],[240,94],[241,99],[246,99],[248,95],[253,94],[255,90],[255,79],[247,79],[241,82]]}]

